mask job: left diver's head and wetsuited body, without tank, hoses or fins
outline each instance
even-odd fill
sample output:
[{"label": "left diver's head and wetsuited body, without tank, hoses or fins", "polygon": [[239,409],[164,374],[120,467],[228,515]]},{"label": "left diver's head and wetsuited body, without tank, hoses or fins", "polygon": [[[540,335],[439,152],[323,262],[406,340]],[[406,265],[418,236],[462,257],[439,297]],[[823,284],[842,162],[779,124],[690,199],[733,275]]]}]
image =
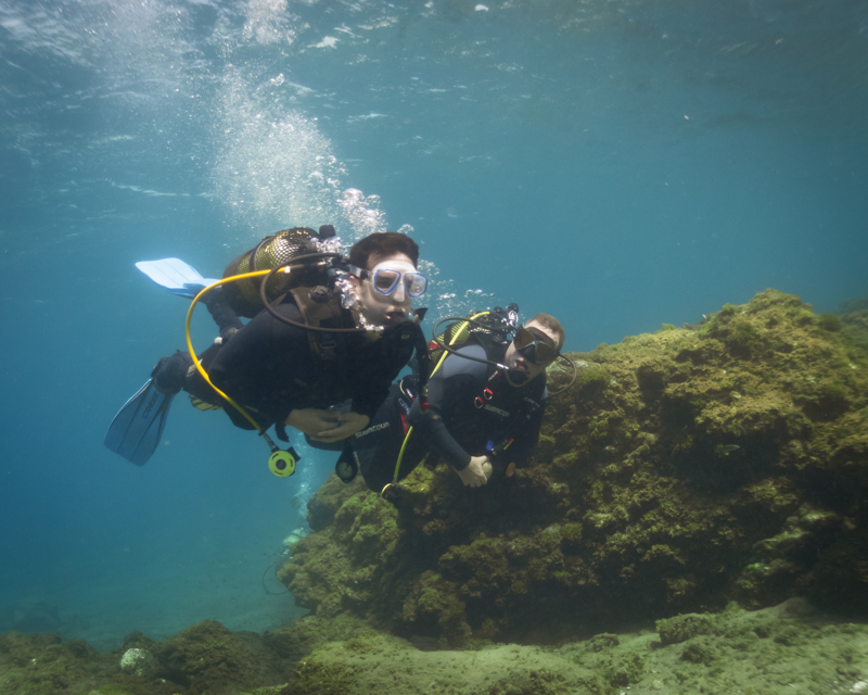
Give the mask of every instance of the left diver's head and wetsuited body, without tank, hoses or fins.
[{"label": "left diver's head and wetsuited body, without tank, hoses or fins", "polygon": [[[371,235],[352,248],[349,262],[356,271],[348,280],[358,300],[359,320],[385,330],[342,334],[328,358],[311,350],[308,330],[266,311],[242,325],[217,293],[206,303],[224,340],[201,355],[202,365],[213,383],[242,404],[263,429],[273,424],[280,435],[289,425],[320,442],[350,437],[368,426],[412,355],[413,340],[400,325],[410,320],[412,298],[426,286],[416,271],[418,260],[416,242],[396,232]],[[289,295],[275,308],[284,318],[304,323]],[[328,327],[356,327],[356,320],[352,312],[341,309],[340,319]],[[190,365],[186,353],[161,361],[153,375],[157,388],[162,392],[183,388],[224,405]],[[349,412],[326,410],[347,400]],[[225,409],[237,427],[253,429],[235,408]]]}]

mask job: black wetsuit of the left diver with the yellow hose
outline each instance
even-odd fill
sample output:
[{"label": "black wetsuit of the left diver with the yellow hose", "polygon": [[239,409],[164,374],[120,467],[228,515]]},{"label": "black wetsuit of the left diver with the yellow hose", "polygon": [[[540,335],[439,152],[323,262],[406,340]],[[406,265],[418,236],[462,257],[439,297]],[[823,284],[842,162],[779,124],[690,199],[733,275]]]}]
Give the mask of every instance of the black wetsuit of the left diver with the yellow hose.
[{"label": "black wetsuit of the left diver with the yellow hose", "polygon": [[[304,323],[293,303],[281,304],[277,312]],[[342,327],[353,326],[348,312],[344,319]],[[339,346],[336,358],[328,361],[311,351],[309,332],[264,311],[213,357],[203,355],[203,364],[214,384],[245,406],[263,428],[283,424],[294,409],[327,408],[347,400],[354,413],[373,417],[390,384],[410,359],[413,341],[396,340],[390,330],[380,336],[331,333]],[[202,383],[189,387],[201,393]],[[227,405],[225,410],[235,426],[253,429],[235,408]]]}]

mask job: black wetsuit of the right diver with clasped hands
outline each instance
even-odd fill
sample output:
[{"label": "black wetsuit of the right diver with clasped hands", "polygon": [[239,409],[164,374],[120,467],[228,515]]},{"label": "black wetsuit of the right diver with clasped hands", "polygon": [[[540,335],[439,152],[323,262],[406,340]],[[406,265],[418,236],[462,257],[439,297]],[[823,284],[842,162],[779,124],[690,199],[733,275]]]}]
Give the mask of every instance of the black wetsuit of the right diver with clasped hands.
[{"label": "black wetsuit of the right diver with clasped hands", "polygon": [[[475,357],[486,354],[481,345],[458,352]],[[495,346],[489,352],[489,359],[502,362],[506,348]],[[406,394],[413,390],[412,383],[407,388],[407,381],[410,380],[405,380],[404,389],[393,384],[370,425],[349,438],[371,490],[380,492],[392,482],[410,425],[413,432],[401,458],[399,479],[409,475],[429,452],[443,456],[456,470],[467,468],[471,456],[482,455],[503,466],[523,465],[539,440],[547,394],[545,372],[522,387],[513,387],[490,365],[460,354],[449,355],[427,383],[430,407],[425,412]],[[490,400],[484,397],[486,387],[492,390]],[[483,399],[482,407],[476,405],[477,397]],[[495,453],[509,439],[513,443],[502,453]],[[488,451],[489,443],[495,452]]]}]

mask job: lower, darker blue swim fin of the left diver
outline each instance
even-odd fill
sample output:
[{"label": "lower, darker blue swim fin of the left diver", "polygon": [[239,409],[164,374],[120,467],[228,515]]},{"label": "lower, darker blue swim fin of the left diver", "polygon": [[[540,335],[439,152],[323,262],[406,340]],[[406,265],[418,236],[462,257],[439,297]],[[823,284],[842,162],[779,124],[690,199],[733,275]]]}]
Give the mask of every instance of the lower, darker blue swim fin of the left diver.
[{"label": "lower, darker blue swim fin of the left diver", "polygon": [[139,389],[115,415],[105,445],[137,466],[144,466],[154,453],[175,394],[161,393],[153,379]]}]

